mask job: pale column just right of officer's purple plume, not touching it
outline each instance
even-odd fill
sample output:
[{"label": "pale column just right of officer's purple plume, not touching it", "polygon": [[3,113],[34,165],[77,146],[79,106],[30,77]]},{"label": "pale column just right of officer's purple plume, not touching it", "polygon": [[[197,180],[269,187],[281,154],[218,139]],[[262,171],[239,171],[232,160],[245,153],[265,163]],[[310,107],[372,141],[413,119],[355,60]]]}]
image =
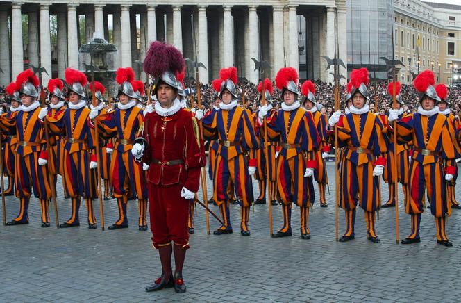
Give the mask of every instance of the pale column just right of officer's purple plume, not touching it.
[{"label": "pale column just right of officer's purple plume, not touching it", "polygon": [[199,68],[199,77],[201,83],[208,83],[208,21],[206,18],[206,6],[199,6],[199,35],[196,35],[197,52],[199,53],[199,62],[203,63],[207,69]]}]

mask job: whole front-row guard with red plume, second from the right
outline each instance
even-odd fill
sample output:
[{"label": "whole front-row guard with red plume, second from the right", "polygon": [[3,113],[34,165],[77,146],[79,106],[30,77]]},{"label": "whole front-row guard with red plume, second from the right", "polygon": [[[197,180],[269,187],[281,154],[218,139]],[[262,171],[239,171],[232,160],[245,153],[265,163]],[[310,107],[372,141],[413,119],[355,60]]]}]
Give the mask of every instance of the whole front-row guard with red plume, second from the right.
[{"label": "whole front-row guard with red plume, second from the right", "polygon": [[380,118],[369,111],[368,70],[364,67],[351,72],[350,113],[341,115],[337,110],[328,124],[337,124],[338,140],[344,147],[341,163],[340,206],[346,214],[346,232],[340,242],[355,238],[355,208],[359,204],[365,211],[368,240],[380,242],[375,230],[375,213],[379,202],[379,177],[384,172],[387,151],[383,124]]}]

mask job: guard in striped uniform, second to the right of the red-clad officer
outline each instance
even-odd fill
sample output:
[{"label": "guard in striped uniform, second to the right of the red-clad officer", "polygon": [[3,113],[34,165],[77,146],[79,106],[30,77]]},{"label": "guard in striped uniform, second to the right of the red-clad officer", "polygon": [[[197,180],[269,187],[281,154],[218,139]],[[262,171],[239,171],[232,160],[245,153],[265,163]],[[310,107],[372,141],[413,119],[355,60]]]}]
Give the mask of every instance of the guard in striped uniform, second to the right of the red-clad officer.
[{"label": "guard in striped uniform, second to the right of the red-clad officer", "polygon": [[[298,73],[293,67],[280,69],[276,85],[282,91],[282,108],[272,111],[261,106],[258,124],[267,119],[267,135],[280,140],[280,154],[277,159],[277,187],[282,200],[283,227],[272,234],[274,238],[292,236],[292,204],[299,206],[301,238],[310,239],[308,228],[309,206],[314,202],[312,184],[316,164],[315,150],[320,146],[319,133],[312,120],[312,114],[301,108],[298,90]],[[263,130],[262,130],[263,131]]]}]

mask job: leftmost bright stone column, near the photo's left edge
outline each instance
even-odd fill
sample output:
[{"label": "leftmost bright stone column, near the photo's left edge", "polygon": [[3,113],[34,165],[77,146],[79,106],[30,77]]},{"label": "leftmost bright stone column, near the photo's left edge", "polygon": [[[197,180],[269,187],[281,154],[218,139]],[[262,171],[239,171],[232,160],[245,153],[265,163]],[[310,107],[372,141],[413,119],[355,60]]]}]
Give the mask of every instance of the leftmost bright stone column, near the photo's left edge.
[{"label": "leftmost bright stone column, near the photo's left edge", "polygon": [[24,69],[21,4],[11,3],[11,72],[13,79]]}]

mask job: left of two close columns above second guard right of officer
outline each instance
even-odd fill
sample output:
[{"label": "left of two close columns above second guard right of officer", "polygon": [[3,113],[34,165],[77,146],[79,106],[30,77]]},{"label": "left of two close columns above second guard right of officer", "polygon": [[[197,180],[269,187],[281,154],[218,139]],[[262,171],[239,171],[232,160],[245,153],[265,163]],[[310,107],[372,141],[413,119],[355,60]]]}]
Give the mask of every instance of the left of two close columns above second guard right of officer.
[{"label": "left of two close columns above second guard right of officer", "polygon": [[272,63],[273,75],[276,76],[278,70],[285,66],[285,56],[283,51],[283,6],[274,6],[272,8],[272,33],[274,62]]}]

